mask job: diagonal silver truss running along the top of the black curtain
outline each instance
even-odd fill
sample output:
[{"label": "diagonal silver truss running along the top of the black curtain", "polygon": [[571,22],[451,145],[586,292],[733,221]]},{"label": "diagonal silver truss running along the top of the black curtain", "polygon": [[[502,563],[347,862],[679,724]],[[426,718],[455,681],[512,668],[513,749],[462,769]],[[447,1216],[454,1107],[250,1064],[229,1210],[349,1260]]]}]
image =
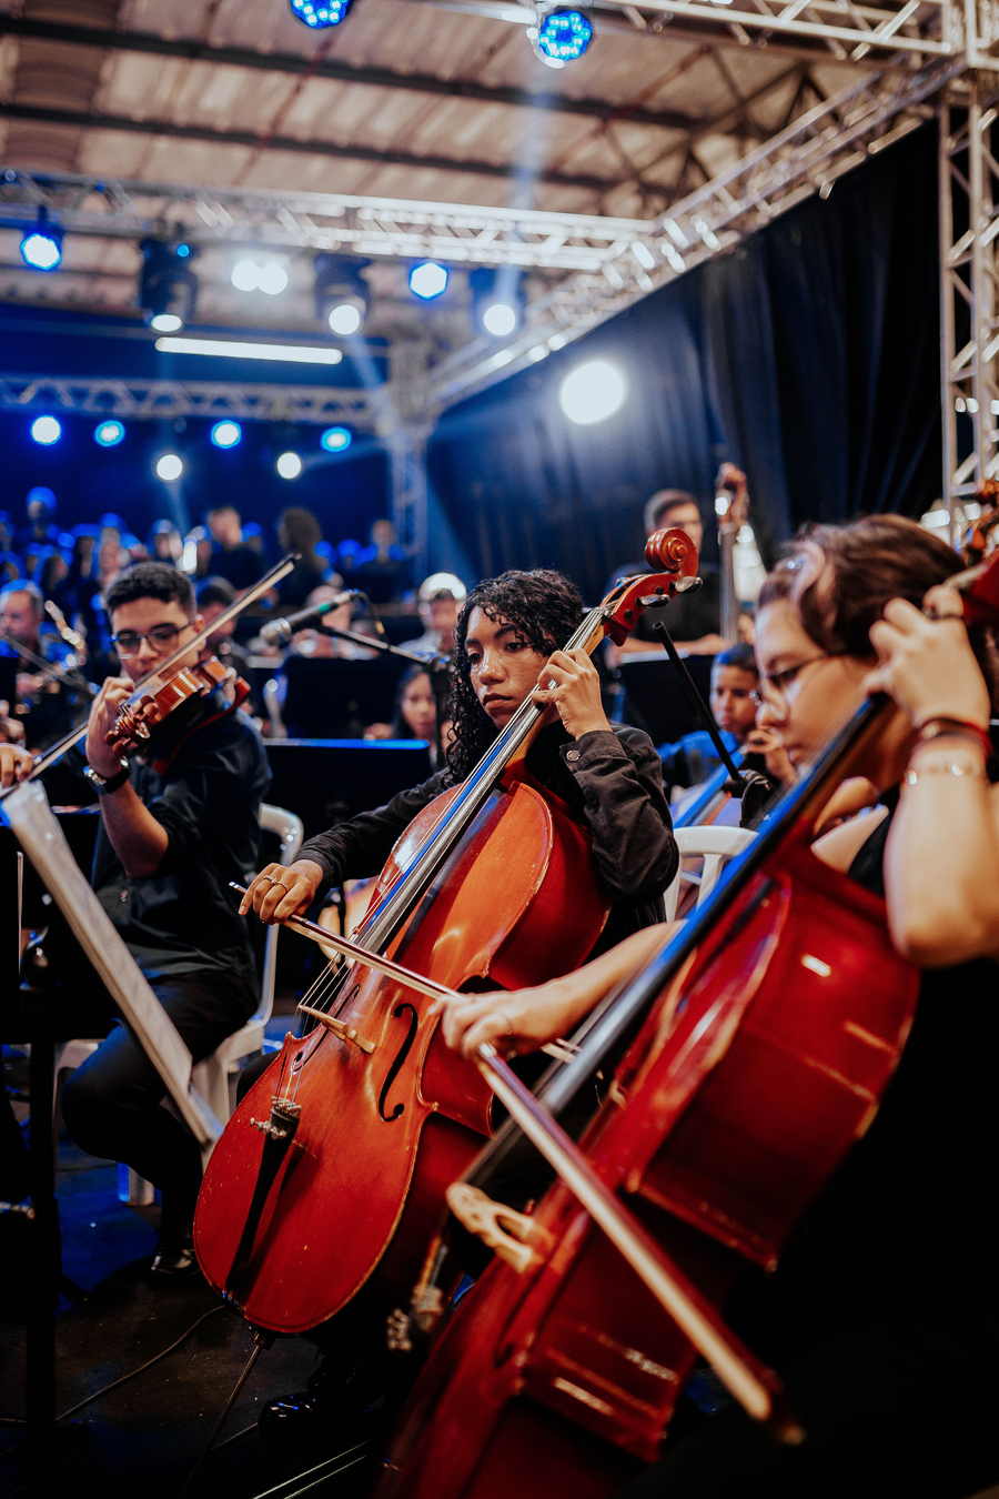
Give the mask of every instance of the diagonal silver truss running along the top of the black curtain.
[{"label": "diagonal silver truss running along the top of the black curtain", "polygon": [[527,369],[813,193],[828,196],[839,177],[930,118],[927,100],[965,70],[965,58],[918,72],[882,69],[803,114],[652,220],[653,232],[626,244],[599,274],[569,276],[532,303],[505,348],[479,337],[439,364],[425,391],[428,409]]}]

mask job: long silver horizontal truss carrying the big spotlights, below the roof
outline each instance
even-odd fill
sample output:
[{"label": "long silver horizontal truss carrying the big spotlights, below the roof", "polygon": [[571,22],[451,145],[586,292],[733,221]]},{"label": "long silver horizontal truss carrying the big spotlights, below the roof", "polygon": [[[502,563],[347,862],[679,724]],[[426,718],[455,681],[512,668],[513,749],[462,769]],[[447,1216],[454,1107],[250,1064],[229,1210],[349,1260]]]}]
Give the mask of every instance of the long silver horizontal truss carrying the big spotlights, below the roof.
[{"label": "long silver horizontal truss carrying the big spotlights, below the roof", "polygon": [[0,169],[0,228],[21,229],[40,207],[72,234],[136,240],[172,234],[193,244],[343,250],[382,259],[601,271],[649,246],[649,219],[538,208],[490,208],[350,193],[250,192],[111,181]]}]

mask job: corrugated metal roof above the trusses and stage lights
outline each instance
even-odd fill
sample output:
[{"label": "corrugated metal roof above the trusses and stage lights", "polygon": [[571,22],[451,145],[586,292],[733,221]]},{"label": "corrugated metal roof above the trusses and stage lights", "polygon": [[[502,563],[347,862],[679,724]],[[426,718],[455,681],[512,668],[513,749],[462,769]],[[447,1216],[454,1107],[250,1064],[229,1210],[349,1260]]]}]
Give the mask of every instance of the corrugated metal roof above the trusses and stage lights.
[{"label": "corrugated metal roof above the trusses and stage lights", "polygon": [[[147,181],[653,217],[863,72],[789,46],[719,46],[661,21],[601,30],[586,57],[553,72],[523,25],[469,9],[356,0],[343,25],[312,33],[286,0],[24,0],[16,16],[0,10],[0,22],[34,28],[0,36],[0,157]],[[208,57],[190,55],[198,43]],[[517,91],[571,108],[529,106]],[[312,258],[283,259],[288,292],[247,297],[229,283],[234,252],[207,250],[199,318],[313,327]],[[126,309],[138,264],[129,243],[72,235],[42,285],[0,232],[0,297]],[[376,279],[395,327],[403,271],[379,267]],[[454,312],[428,316],[443,328]]]}]

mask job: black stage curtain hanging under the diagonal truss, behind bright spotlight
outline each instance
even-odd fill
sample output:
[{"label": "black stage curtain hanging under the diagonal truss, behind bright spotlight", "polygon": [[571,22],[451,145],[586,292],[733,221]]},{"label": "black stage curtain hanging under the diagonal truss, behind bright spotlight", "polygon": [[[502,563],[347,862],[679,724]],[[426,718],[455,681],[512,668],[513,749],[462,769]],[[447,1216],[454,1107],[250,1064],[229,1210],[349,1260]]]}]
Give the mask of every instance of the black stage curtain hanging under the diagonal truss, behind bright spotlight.
[{"label": "black stage curtain hanging under the diagonal truss, behind bright spotlight", "polygon": [[[649,495],[687,489],[708,516],[722,459],[746,469],[764,553],[804,520],[927,510],[941,492],[936,243],[927,124],[828,199],[452,406],[430,444],[431,562],[463,558],[481,577],[557,567],[596,600],[641,558]],[[629,399],[577,427],[559,387],[599,357],[625,369]]]}]

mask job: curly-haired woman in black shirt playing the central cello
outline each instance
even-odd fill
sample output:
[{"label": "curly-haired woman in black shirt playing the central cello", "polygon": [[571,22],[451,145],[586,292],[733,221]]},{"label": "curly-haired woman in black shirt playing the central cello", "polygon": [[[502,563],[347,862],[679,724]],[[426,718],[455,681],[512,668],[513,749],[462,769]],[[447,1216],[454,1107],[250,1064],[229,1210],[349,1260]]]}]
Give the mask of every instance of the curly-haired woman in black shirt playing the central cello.
[{"label": "curly-haired woman in black shirt playing the central cello", "polygon": [[[545,708],[524,770],[587,827],[593,860],[611,902],[592,956],[664,917],[662,896],[678,866],[659,755],[638,729],[610,724],[596,669],[586,651],[562,651],[583,619],[575,586],[559,573],[503,573],[469,594],[455,627],[451,715],[454,738],[442,770],[385,806],[309,839],[291,866],[270,863],[250,884],[241,910],[267,920],[304,914],[330,886],[374,875],[413,818],[434,797],[466,781],[517,709]],[[557,944],[557,925],[553,944]],[[255,1063],[241,1094],[259,1076]],[[310,1334],[325,1355],[309,1390],[264,1406],[261,1435],[291,1444],[333,1439],[373,1393],[383,1390],[385,1339],[364,1291]]]}]

